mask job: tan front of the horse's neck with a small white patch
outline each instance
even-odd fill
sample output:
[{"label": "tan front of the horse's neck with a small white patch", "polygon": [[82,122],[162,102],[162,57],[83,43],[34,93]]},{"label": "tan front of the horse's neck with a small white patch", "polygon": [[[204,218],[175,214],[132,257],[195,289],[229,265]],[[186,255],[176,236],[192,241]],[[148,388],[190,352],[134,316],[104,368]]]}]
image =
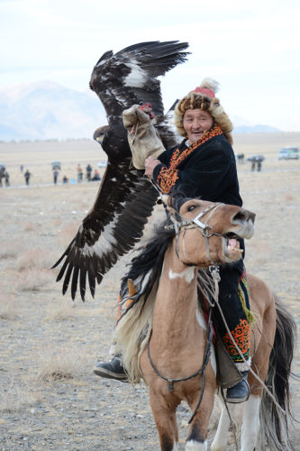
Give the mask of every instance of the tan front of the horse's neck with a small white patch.
[{"label": "tan front of the horse's neck with a small white patch", "polygon": [[196,268],[180,262],[174,246],[165,255],[153,314],[153,334],[183,340],[196,327]]}]

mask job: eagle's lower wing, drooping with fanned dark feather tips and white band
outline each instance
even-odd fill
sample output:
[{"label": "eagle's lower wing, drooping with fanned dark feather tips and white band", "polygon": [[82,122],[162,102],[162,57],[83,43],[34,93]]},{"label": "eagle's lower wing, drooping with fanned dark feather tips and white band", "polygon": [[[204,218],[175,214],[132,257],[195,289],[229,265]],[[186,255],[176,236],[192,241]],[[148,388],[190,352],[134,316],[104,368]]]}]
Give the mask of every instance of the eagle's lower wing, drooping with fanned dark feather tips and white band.
[{"label": "eagle's lower wing, drooping with fanned dark feather tips and white band", "polygon": [[72,299],[78,281],[81,298],[85,299],[86,276],[94,296],[95,281],[100,283],[119,257],[141,238],[157,192],[150,180],[141,177],[141,171],[129,170],[129,166],[130,161],[117,165],[108,162],[94,206],[53,266],[65,258],[57,281],[65,276],[62,292],[65,294],[70,284]]}]

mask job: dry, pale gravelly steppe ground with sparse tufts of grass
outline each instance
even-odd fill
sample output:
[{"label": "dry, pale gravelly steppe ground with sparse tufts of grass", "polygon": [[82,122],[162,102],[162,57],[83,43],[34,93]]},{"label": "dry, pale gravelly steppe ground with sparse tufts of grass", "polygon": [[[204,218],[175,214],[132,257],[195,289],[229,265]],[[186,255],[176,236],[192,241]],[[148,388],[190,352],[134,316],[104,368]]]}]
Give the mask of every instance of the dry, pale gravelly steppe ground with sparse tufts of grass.
[{"label": "dry, pale gravelly steppe ground with sparse tufts of grass", "polygon": [[[300,145],[300,133],[235,135],[234,141],[236,153],[266,157],[261,172],[251,172],[249,161],[238,164],[244,207],[257,214],[255,235],[246,244],[247,271],[268,283],[300,327],[300,161],[277,159],[281,147]],[[77,184],[77,164],[95,169],[102,160],[104,152],[92,141],[0,143],[0,161],[11,180],[10,188],[0,189],[1,450],[159,449],[145,386],[93,373],[96,360],[108,357],[114,304],[129,256],[86,303],[72,302],[68,293],[63,297],[55,282],[58,272],[50,271],[95,200],[98,183]],[[62,165],[57,186],[51,161]],[[29,187],[21,164],[32,172]],[[68,185],[61,184],[64,175]],[[299,346],[294,372],[300,375]],[[300,420],[300,382],[291,386]],[[210,442],[217,415],[216,409]],[[180,449],[189,416],[181,406]],[[299,451],[299,425],[290,434]]]}]

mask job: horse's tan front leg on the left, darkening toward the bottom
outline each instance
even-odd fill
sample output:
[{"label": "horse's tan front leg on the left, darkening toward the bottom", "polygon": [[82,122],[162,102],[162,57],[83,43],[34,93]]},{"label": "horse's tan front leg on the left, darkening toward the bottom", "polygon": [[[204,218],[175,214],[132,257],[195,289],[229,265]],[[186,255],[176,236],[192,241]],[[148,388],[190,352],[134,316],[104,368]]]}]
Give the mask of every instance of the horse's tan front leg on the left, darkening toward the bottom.
[{"label": "horse's tan front leg on the left, darkening toward the bottom", "polygon": [[178,429],[176,421],[176,408],[170,407],[167,402],[154,391],[150,390],[150,406],[159,431],[159,442],[162,451],[177,451]]}]

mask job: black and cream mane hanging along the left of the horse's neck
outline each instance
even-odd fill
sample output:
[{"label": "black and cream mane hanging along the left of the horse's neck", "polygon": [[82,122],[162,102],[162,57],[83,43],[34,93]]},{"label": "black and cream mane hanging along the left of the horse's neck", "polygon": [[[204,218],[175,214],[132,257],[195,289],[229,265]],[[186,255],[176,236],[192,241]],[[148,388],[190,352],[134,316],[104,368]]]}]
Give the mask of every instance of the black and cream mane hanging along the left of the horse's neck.
[{"label": "black and cream mane hanging along the left of the horse's neck", "polygon": [[[157,226],[149,242],[141,246],[122,279],[120,304],[123,313],[115,327],[115,352],[123,354],[123,366],[132,383],[141,381],[140,357],[150,339],[159,276],[165,253],[175,235],[174,228],[166,228],[173,224],[169,210],[172,209],[173,218],[179,219],[178,211],[185,200],[185,194],[178,191],[168,197],[166,221]],[[133,295],[129,292],[129,280],[134,285]]]}]

